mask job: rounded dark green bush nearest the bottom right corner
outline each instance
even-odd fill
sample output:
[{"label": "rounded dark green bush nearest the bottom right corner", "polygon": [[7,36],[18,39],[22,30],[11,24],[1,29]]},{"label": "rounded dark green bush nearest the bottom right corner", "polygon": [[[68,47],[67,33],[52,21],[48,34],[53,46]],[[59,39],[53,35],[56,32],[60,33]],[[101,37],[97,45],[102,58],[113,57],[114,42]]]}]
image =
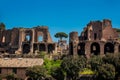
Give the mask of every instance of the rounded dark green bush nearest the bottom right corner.
[{"label": "rounded dark green bush nearest the bottom right corner", "polygon": [[115,67],[112,64],[102,64],[98,68],[98,80],[114,80]]}]

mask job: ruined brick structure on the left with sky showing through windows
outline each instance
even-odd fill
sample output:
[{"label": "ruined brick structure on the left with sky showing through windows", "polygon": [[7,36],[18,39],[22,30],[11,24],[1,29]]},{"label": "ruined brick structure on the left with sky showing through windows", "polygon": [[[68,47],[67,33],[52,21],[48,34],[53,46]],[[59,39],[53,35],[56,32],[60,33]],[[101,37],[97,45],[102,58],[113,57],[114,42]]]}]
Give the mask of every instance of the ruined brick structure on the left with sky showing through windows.
[{"label": "ruined brick structure on the left with sky showing through windows", "polygon": [[13,28],[0,31],[0,52],[35,53],[35,51],[52,53],[56,44],[52,41],[48,27]]}]

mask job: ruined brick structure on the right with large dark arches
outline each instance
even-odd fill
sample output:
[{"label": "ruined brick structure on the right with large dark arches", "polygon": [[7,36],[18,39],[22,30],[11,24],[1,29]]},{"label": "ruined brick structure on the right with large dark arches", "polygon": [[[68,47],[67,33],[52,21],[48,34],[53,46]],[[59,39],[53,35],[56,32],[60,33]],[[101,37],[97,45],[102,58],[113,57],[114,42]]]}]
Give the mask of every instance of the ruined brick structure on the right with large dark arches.
[{"label": "ruined brick structure on the right with large dark arches", "polygon": [[120,52],[119,36],[112,28],[111,21],[91,21],[81,35],[71,32],[69,35],[69,52],[72,55],[104,55]]}]

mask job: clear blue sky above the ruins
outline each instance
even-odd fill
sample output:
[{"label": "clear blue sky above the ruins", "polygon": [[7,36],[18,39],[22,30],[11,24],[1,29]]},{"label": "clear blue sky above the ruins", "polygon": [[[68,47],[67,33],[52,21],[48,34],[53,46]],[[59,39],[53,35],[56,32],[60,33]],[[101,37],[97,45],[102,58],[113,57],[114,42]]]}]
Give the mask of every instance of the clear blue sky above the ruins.
[{"label": "clear blue sky above the ruins", "polygon": [[0,0],[0,22],[7,29],[48,26],[54,34],[80,32],[90,22],[110,19],[120,28],[120,0]]}]

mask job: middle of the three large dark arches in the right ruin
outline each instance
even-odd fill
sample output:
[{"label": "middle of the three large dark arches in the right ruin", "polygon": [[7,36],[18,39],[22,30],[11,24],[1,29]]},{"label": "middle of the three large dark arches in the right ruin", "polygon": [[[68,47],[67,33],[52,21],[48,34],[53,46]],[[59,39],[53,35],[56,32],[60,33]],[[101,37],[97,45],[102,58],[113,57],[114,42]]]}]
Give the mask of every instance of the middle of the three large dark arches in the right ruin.
[{"label": "middle of the three large dark arches in the right ruin", "polygon": [[96,42],[91,44],[91,53],[94,55],[99,55],[100,54],[100,45]]}]

